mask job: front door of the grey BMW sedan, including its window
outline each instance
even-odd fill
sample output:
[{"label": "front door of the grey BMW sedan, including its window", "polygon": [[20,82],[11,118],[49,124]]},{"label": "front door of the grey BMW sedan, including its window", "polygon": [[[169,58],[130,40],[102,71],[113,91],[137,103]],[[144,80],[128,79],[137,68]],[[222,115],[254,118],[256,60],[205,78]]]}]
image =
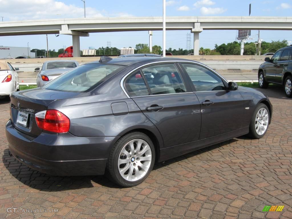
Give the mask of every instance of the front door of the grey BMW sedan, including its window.
[{"label": "front door of the grey BMW sedan, including its window", "polygon": [[227,90],[227,82],[202,65],[180,63],[180,66],[192,81],[194,94],[201,104],[199,139],[242,128],[244,99],[239,91]]}]

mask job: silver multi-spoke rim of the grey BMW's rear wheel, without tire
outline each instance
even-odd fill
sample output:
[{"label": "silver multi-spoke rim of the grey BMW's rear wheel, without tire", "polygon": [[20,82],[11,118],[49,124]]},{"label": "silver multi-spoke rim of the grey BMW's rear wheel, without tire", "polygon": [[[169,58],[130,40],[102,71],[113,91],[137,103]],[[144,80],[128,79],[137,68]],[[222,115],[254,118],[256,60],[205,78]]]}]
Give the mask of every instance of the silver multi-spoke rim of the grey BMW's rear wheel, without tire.
[{"label": "silver multi-spoke rim of the grey BMW's rear wheel, without tire", "polygon": [[143,178],[151,165],[152,152],[145,140],[134,139],[122,148],[118,169],[120,175],[128,181],[137,181]]}]

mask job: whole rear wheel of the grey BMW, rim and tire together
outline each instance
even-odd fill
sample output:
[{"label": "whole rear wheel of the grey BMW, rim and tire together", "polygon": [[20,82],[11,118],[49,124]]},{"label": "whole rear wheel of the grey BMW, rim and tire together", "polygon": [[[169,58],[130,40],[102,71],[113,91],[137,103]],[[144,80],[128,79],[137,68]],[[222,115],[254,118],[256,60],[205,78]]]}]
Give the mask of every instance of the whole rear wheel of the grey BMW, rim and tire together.
[{"label": "whole rear wheel of the grey BMW, rim and tire together", "polygon": [[107,162],[107,175],[118,185],[142,183],[151,172],[155,150],[151,139],[141,132],[124,135],[114,145]]}]

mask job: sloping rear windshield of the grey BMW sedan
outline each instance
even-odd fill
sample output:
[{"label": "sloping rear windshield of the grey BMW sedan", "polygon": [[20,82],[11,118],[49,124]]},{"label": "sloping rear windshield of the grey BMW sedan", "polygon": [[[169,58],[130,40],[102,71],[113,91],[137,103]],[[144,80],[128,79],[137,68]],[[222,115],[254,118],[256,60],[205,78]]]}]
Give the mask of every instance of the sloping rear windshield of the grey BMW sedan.
[{"label": "sloping rear windshield of the grey BMW sedan", "polygon": [[107,80],[125,66],[109,64],[86,64],[62,74],[42,88],[55,91],[85,92]]}]

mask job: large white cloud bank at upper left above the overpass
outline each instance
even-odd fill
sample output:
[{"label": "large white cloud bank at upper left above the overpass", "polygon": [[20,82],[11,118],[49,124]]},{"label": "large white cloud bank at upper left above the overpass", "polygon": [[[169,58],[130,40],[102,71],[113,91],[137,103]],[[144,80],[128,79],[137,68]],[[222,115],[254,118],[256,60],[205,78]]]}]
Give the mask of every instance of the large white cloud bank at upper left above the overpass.
[{"label": "large white cloud bank at upper left above the overpass", "polygon": [[[81,2],[82,3],[82,2]],[[83,3],[80,6],[56,0],[0,0],[1,16],[4,20],[35,20],[56,18],[83,18]],[[110,13],[111,16],[128,17],[128,13]],[[107,12],[86,7],[86,18],[107,16]]]}]

